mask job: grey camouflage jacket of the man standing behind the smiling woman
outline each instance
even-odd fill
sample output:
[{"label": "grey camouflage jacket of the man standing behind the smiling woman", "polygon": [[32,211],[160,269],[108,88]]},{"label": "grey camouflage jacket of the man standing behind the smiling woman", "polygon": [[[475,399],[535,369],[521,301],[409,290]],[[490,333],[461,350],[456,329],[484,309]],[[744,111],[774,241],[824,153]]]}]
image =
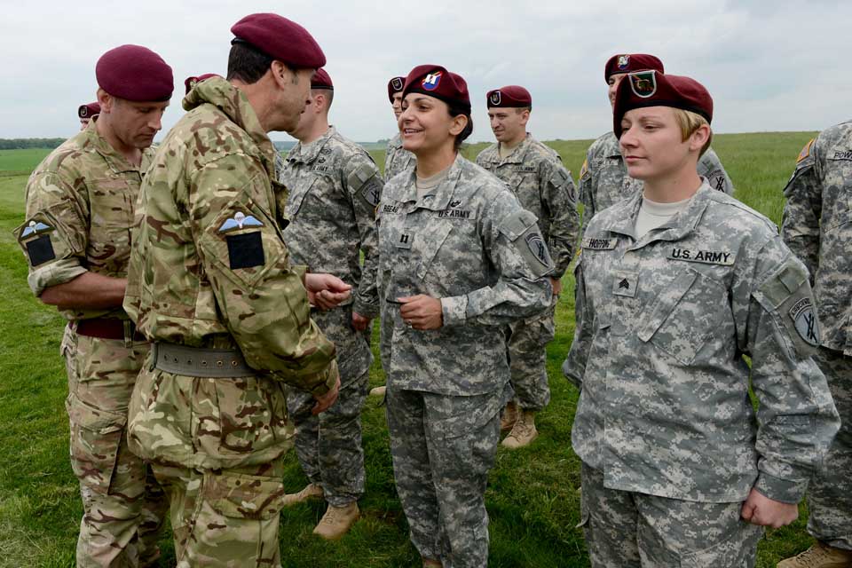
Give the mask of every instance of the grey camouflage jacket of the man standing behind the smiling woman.
[{"label": "grey camouflage jacket of the man standing behind the smiling woman", "polygon": [[477,164],[506,182],[521,207],[539,217],[541,236],[555,264],[553,277],[562,278],[580,232],[574,180],[562,165],[562,158],[527,134],[505,159],[500,157],[499,146],[493,144],[479,153]]}]

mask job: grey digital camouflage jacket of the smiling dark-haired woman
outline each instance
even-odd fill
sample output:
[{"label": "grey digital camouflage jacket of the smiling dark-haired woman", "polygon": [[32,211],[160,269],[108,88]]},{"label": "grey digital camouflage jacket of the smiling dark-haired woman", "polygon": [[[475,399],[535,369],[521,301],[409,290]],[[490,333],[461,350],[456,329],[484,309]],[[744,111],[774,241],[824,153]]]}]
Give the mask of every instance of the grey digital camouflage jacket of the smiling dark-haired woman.
[{"label": "grey digital camouflage jacket of the smiling dark-haired woman", "polygon": [[[505,324],[546,309],[553,294],[536,218],[461,154],[420,199],[414,176],[393,177],[378,209],[388,385],[453,396],[501,390],[509,381]],[[417,294],[441,300],[443,327],[406,327],[393,302]]]}]

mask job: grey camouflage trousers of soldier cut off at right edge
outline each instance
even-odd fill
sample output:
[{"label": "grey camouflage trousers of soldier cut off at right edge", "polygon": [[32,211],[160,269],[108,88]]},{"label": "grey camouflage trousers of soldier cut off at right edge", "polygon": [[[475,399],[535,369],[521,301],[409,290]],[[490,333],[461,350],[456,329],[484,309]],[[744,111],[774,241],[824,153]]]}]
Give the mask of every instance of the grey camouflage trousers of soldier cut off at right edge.
[{"label": "grey camouflage trousers of soldier cut off at right edge", "polygon": [[808,532],[852,550],[852,357],[821,348],[814,357],[840,414],[840,431],[808,486]]}]

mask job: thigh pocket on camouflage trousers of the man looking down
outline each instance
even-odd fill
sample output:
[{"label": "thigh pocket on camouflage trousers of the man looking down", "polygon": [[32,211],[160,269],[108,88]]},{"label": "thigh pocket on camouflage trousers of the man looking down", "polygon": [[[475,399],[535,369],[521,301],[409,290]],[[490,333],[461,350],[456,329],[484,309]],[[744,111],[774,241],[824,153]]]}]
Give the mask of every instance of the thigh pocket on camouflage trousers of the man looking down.
[{"label": "thigh pocket on camouflage trousers of the man looking down", "polygon": [[65,401],[71,422],[71,467],[83,485],[107,494],[127,415],[100,410],[76,397]]}]

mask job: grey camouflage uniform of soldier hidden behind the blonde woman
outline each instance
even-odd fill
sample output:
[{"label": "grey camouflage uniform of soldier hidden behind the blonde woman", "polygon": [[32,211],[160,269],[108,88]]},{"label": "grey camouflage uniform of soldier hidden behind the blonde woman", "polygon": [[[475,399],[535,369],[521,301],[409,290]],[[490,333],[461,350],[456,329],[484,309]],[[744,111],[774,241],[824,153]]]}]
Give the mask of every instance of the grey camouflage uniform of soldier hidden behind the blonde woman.
[{"label": "grey camouflage uniform of soldier hidden behind the blonde woman", "polygon": [[[729,195],[734,193],[734,185],[728,173],[719,162],[719,156],[713,148],[698,160],[698,175],[706,177],[714,189]],[[642,181],[627,176],[627,165],[621,157],[619,138],[613,132],[607,132],[597,138],[588,147],[586,162],[580,170],[580,201],[583,203],[583,226],[604,209],[633,197],[642,187]]]}]

